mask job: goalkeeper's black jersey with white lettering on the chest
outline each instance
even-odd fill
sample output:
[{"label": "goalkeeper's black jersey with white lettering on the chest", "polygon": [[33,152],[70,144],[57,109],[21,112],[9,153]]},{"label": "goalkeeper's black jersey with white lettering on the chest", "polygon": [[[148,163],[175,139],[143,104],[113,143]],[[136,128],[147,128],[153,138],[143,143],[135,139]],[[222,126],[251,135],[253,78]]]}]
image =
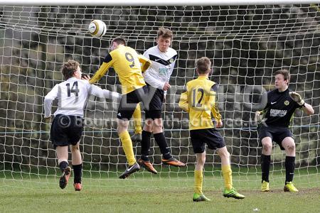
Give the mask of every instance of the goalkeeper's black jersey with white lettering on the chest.
[{"label": "goalkeeper's black jersey with white lettering on the chest", "polygon": [[265,124],[270,126],[289,126],[294,111],[299,104],[289,97],[289,89],[279,92],[274,89],[267,93],[267,106],[265,107]]}]

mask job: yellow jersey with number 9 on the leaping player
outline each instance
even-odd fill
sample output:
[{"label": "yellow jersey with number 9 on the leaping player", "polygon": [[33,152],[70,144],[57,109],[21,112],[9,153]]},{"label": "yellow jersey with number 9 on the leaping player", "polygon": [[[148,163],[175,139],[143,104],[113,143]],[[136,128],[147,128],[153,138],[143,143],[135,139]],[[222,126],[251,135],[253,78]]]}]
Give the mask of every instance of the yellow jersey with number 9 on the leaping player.
[{"label": "yellow jersey with number 9 on the leaping player", "polygon": [[[142,65],[140,64],[142,63]],[[119,45],[112,50],[103,61],[99,70],[90,79],[90,84],[100,80],[110,67],[114,68],[121,82],[122,94],[127,94],[146,85],[142,72],[151,65],[151,61],[136,50],[124,45]]]}]

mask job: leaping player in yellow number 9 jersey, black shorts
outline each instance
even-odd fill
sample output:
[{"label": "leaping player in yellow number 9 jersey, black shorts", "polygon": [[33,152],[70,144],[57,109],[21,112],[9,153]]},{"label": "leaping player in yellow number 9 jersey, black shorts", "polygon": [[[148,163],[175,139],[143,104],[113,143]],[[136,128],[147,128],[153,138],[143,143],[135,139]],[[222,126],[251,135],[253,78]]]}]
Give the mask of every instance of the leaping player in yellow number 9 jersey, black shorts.
[{"label": "leaping player in yellow number 9 jersey, black shorts", "polygon": [[128,126],[134,109],[139,102],[142,102],[144,107],[148,107],[146,98],[147,87],[142,72],[150,65],[150,60],[143,55],[139,55],[136,50],[127,47],[126,41],[123,38],[117,37],[112,40],[111,52],[107,54],[99,70],[97,70],[90,80],[91,84],[97,82],[105,75],[109,67],[113,67],[122,85],[122,99],[117,112],[117,132],[129,163],[129,168],[119,176],[122,179],[127,178],[140,169],[139,164],[134,158]]}]

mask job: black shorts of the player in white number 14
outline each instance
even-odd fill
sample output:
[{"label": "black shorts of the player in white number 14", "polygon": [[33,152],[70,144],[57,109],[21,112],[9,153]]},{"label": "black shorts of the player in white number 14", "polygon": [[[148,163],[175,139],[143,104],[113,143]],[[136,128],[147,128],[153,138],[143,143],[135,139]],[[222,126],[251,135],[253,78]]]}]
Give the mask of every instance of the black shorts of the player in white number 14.
[{"label": "black shorts of the player in white number 14", "polygon": [[50,129],[53,148],[77,144],[82,132],[83,119],[80,116],[56,115]]}]

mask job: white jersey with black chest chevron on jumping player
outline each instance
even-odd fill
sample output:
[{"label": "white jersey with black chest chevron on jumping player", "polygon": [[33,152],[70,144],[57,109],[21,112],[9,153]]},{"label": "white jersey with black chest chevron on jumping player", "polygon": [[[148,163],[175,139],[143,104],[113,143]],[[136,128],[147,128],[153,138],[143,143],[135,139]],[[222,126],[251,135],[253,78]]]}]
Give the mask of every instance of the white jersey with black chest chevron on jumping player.
[{"label": "white jersey with black chest chevron on jumping player", "polygon": [[163,89],[164,84],[169,82],[176,63],[176,50],[168,48],[165,53],[161,52],[158,46],[149,48],[144,56],[151,60],[151,66],[144,72],[144,81],[152,87]]}]

